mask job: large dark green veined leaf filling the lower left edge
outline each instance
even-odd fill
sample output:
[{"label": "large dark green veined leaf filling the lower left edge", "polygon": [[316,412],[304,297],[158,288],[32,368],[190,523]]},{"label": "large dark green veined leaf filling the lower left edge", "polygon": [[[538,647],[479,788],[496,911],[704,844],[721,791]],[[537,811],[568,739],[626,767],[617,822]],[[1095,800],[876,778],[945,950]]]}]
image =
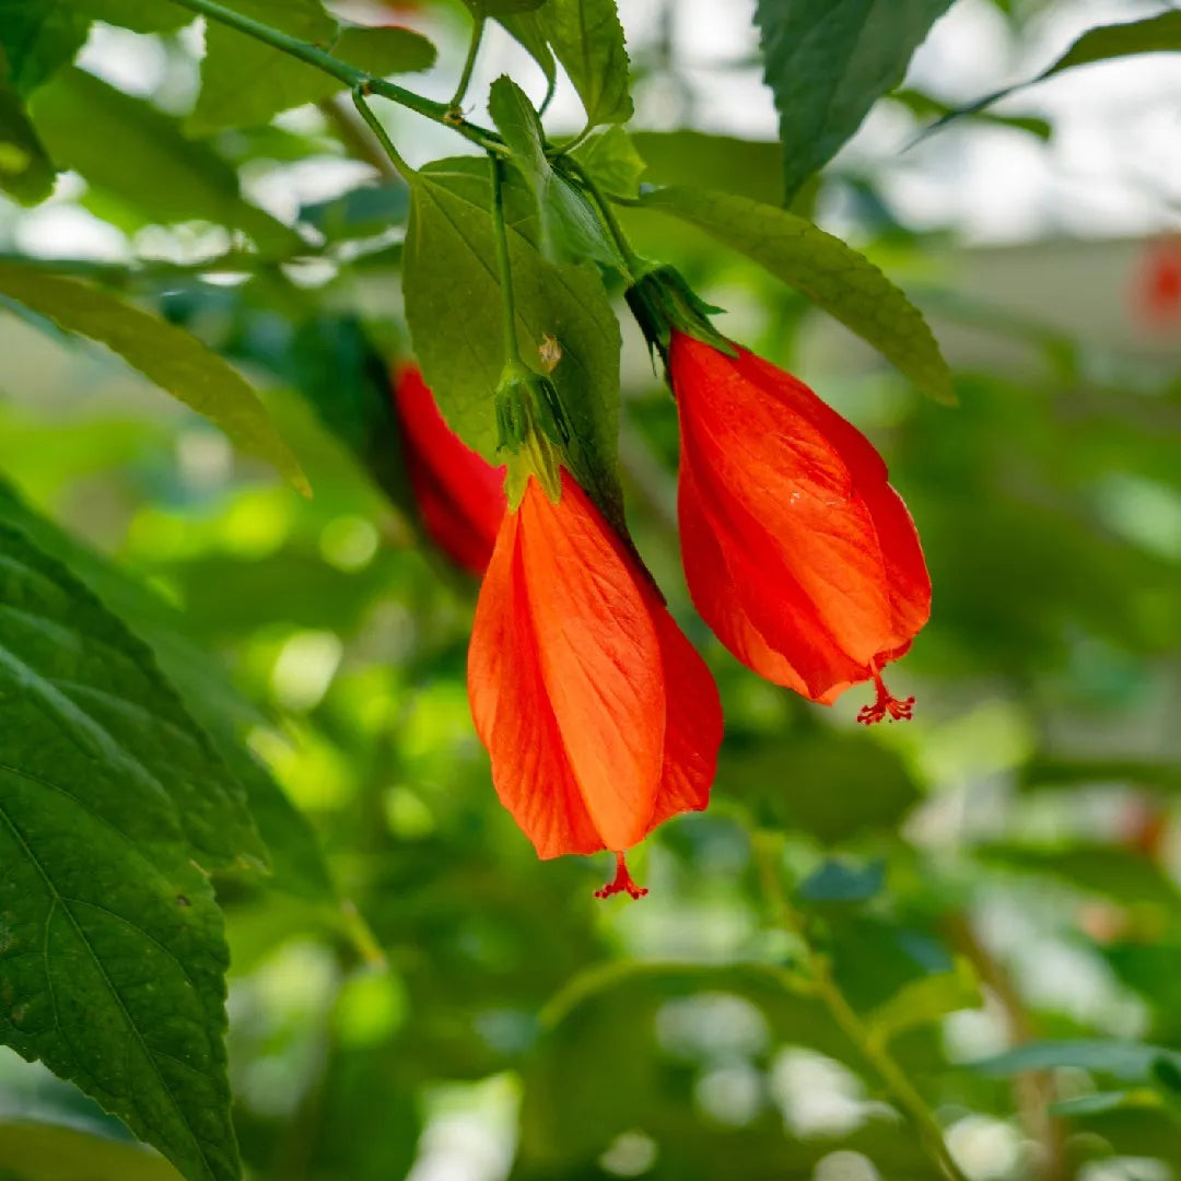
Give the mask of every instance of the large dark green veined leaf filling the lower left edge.
[{"label": "large dark green veined leaf filling the lower left edge", "polygon": [[190,1181],[236,1181],[201,864],[253,836],[237,785],[148,651],[6,524],[0,603],[0,1039]]}]

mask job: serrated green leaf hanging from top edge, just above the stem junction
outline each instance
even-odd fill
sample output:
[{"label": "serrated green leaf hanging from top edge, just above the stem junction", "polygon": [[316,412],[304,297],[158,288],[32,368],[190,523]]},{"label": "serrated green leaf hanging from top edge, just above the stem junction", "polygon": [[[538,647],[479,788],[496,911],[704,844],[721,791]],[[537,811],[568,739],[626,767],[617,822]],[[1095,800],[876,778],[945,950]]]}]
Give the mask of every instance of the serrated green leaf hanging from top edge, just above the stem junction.
[{"label": "serrated green leaf hanging from top edge, just above the stem junction", "polygon": [[632,96],[615,0],[549,0],[537,19],[582,99],[587,123],[626,123]]}]

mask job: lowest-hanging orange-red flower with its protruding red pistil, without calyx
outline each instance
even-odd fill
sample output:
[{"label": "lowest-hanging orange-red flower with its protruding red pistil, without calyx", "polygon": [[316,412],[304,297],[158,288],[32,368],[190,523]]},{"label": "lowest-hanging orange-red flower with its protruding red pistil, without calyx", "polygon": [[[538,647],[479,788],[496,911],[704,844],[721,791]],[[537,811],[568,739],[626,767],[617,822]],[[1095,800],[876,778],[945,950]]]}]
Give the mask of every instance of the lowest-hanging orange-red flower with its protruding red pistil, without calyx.
[{"label": "lowest-hanging orange-red flower with its protruding red pistil, without calyx", "polygon": [[529,476],[484,575],[468,654],[501,802],[541,857],[616,854],[605,898],[639,889],[625,850],[709,802],[722,740],[713,678],[638,560],[561,471]]}]

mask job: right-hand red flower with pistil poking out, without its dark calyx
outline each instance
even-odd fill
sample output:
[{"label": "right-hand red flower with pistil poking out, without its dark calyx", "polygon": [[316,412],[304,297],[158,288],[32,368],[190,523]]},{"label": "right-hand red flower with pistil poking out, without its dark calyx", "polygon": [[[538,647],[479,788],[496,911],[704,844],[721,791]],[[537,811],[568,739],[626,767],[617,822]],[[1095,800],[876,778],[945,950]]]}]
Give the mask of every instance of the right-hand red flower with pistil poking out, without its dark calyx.
[{"label": "right-hand red flower with pistil poking out, without its dark calyx", "polygon": [[908,718],[881,671],[931,613],[914,522],[886,464],[802,381],[673,328],[679,515],[689,587],[744,664],[830,704],[873,679],[859,722]]}]

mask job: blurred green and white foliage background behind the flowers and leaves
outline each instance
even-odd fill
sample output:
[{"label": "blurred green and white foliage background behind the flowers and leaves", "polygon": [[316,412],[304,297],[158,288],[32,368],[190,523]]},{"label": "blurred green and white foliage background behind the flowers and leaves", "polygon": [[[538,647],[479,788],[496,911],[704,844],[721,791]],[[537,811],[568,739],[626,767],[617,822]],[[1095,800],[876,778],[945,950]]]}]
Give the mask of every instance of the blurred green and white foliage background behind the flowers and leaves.
[{"label": "blurred green and white foliage background behind the flowers and leaves", "polygon": [[[959,0],[805,195],[927,312],[957,409],[748,261],[626,218],[724,331],[880,446],[935,594],[892,670],[918,698],[908,725],[862,732],[859,690],[826,710],[739,667],[687,601],[674,409],[620,300],[629,522],[727,719],[713,805],[638,852],[639,903],[593,900],[606,857],[536,861],[472,732],[476,587],[420,540],[389,410],[404,188],[309,107],[213,141],[252,200],[320,231],[328,250],[299,265],[204,269],[231,234],[158,224],[164,182],[133,161],[122,184],[65,175],[35,210],[0,198],[0,252],[102,278],[240,364],[315,489],[300,498],[102,350],[0,315],[0,495],[130,573],[111,593],[143,596],[144,618],[183,614],[176,661],[218,686],[318,841],[295,834],[270,881],[218,883],[253,1177],[932,1176],[778,974],[794,947],[752,856],[768,834],[973,1181],[1181,1176],[1181,1057],[1163,1052],[1181,1055],[1181,58],[1078,70],[920,138],[1091,25],[1159,7]],[[622,0],[646,180],[778,200],[752,8]],[[428,33],[441,61],[415,81],[450,96],[461,5],[341,11]],[[175,115],[200,46],[200,24],[97,26],[80,63]],[[494,31],[477,115],[504,71],[540,99]],[[462,143],[383,115],[412,163]],[[578,129],[573,92],[548,123]],[[0,1050],[0,1176],[175,1174]]]}]

